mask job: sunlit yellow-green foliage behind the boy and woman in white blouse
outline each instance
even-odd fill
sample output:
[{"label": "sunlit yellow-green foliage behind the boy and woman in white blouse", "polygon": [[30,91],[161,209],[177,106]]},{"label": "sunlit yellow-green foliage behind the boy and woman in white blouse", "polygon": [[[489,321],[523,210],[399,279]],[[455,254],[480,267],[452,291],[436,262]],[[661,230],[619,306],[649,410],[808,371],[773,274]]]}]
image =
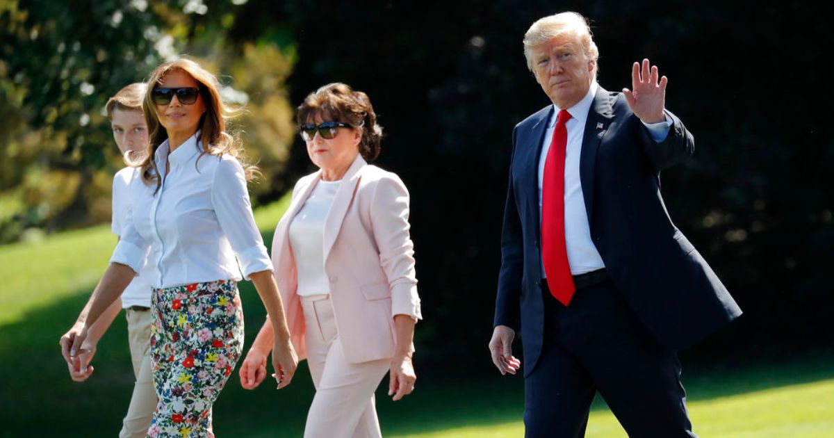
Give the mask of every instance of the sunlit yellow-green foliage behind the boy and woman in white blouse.
[{"label": "sunlit yellow-green foliage behind the boy and woman in white blouse", "polygon": [[[219,73],[224,98],[264,167],[254,190],[275,199],[292,138],[284,93],[293,48],[232,46],[239,1],[48,0],[0,3],[0,243],[25,229],[52,231],[109,219],[110,175],[122,167],[104,103],[158,63],[188,53]],[[219,68],[220,67],[220,68]],[[231,78],[241,80],[239,88]]]}]

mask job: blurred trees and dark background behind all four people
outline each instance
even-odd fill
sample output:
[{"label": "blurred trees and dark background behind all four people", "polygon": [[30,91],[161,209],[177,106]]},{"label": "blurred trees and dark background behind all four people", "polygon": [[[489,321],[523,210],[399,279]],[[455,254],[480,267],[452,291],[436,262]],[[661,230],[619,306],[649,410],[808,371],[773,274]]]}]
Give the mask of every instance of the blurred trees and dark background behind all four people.
[{"label": "blurred trees and dark background behind all four people", "polygon": [[256,203],[311,169],[294,107],[349,83],[385,129],[378,164],[412,194],[418,359],[485,370],[510,133],[549,103],[520,40],[563,10],[591,18],[603,87],[630,86],[631,63],[650,58],[696,136],[696,156],[662,175],[667,207],[746,315],[688,355],[830,348],[831,37],[801,3],[3,0],[0,239],[108,219],[122,164],[103,104],[165,58],[199,58],[247,108],[237,127],[264,170]]}]

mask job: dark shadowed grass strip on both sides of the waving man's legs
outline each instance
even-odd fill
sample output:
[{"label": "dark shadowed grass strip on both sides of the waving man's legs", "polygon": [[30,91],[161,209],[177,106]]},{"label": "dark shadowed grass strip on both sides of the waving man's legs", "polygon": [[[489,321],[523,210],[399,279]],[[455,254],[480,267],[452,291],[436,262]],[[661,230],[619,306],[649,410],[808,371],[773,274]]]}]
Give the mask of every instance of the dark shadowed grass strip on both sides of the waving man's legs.
[{"label": "dark shadowed grass strip on both sides of the waving man's legs", "polygon": [[[830,379],[834,379],[834,355],[831,352],[742,368],[714,365],[689,370],[685,363],[682,376],[690,403]],[[523,420],[524,381],[520,375],[426,380],[419,380],[419,390],[403,401],[391,402],[378,392],[384,435],[430,433]],[[383,383],[387,385],[387,382]],[[608,410],[608,406],[597,395],[591,410]]]}]

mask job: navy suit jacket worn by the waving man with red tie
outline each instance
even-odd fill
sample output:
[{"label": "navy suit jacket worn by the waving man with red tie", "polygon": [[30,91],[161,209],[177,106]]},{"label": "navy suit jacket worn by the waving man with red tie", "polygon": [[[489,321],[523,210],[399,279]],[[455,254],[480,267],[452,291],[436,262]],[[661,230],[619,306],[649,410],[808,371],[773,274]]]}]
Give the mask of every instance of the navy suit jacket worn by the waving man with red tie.
[{"label": "navy suit jacket worn by the waving man with red tie", "polygon": [[[513,130],[501,235],[495,325],[520,333],[525,375],[541,353],[538,164],[552,105]],[[694,138],[681,120],[656,143],[621,93],[599,87],[585,122],[580,181],[590,236],[615,288],[646,329],[671,350],[701,340],[741,315],[701,254],[672,223],[660,172],[689,158]]]}]

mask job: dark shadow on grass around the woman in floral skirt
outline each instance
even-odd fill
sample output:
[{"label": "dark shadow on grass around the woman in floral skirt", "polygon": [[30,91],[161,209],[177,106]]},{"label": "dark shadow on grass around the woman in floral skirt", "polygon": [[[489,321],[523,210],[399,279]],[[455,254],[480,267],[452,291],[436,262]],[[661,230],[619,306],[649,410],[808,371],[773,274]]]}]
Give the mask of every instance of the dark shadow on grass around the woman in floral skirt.
[{"label": "dark shadow on grass around the woman in floral skirt", "polygon": [[[248,350],[265,311],[251,283],[242,282],[240,289]],[[95,372],[87,382],[69,379],[58,346],[91,290],[79,289],[0,326],[0,437],[118,434],[133,390],[123,314],[99,342]],[[215,431],[219,436],[300,436],[313,394],[306,365],[299,367],[294,385],[281,391],[270,380],[254,391],[244,390],[235,370],[214,406]]]}]

